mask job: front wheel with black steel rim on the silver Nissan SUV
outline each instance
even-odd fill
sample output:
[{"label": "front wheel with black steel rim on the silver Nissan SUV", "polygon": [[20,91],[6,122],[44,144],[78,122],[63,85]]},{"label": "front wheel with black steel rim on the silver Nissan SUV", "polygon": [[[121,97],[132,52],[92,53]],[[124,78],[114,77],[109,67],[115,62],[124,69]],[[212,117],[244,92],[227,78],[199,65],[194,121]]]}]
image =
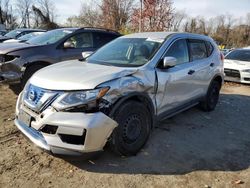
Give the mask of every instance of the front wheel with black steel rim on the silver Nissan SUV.
[{"label": "front wheel with black steel rim on the silver Nissan SUV", "polygon": [[112,133],[112,149],[120,155],[135,155],[149,137],[151,119],[149,110],[142,103],[123,103],[114,114],[118,127]]}]

